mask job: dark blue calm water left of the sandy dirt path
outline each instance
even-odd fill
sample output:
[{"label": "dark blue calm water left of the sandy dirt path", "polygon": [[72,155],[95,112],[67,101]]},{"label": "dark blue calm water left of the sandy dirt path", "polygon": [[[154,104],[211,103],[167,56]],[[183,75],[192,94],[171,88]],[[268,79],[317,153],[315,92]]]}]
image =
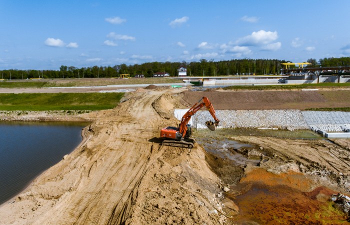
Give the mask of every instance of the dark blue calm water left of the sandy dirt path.
[{"label": "dark blue calm water left of the sandy dirt path", "polygon": [[86,122],[0,122],[0,204],[82,140]]}]

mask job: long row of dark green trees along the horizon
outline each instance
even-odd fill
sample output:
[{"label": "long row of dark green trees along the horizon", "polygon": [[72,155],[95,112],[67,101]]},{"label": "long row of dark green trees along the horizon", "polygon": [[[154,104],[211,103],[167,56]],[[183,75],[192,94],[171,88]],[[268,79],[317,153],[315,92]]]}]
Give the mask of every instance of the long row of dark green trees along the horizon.
[{"label": "long row of dark green trees along the horizon", "polygon": [[[0,70],[3,79],[26,79],[26,78],[89,78],[89,77],[119,77],[121,73],[135,75],[143,74],[145,77],[152,77],[153,73],[165,71],[171,76],[177,75],[179,66],[187,68],[187,75],[190,76],[215,76],[234,74],[278,74],[286,62],[278,59],[231,59],[231,60],[206,60],[191,62],[145,62],[142,64],[119,64],[114,66],[92,66],[77,68],[74,66],[61,65],[59,70]],[[350,65],[350,57],[321,58],[318,61],[314,58],[307,60],[309,67],[328,67]]]}]

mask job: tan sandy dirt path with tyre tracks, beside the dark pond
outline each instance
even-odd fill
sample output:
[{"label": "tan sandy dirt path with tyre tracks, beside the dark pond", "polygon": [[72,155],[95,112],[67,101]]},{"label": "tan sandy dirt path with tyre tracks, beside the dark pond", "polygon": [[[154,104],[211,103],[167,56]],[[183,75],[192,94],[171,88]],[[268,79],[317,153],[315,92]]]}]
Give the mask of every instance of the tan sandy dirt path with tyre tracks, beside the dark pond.
[{"label": "tan sandy dirt path with tyre tracks, beside the dark pond", "polygon": [[[67,158],[1,206],[0,224],[216,223],[218,215],[207,211],[218,203],[212,192],[219,180],[203,160],[203,149],[160,147],[154,138],[160,127],[175,122],[152,107],[168,91],[131,93],[116,108],[96,113]],[[149,207],[166,213],[147,214]]]}]

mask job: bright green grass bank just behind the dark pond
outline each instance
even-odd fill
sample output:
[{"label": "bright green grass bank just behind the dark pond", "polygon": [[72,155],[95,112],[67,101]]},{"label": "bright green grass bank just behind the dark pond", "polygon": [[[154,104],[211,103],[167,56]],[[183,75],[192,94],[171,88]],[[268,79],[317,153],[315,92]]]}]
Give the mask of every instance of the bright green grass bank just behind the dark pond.
[{"label": "bright green grass bank just behind the dark pond", "polygon": [[0,110],[101,110],[115,107],[124,93],[0,93]]}]

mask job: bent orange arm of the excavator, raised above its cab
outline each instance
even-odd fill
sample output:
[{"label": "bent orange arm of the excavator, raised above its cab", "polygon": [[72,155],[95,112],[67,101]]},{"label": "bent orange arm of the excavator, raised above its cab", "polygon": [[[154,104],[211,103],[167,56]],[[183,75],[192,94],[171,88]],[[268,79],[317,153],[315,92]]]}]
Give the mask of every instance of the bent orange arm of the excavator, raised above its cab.
[{"label": "bent orange arm of the excavator, raised above its cab", "polygon": [[[202,102],[200,102],[202,100]],[[199,103],[200,102],[200,103]],[[184,137],[187,131],[187,123],[192,115],[194,115],[201,107],[205,106],[210,112],[211,116],[215,120],[215,126],[218,125],[219,121],[216,117],[215,110],[207,97],[202,97],[197,103],[195,103],[188,111],[182,116],[181,123],[178,125],[178,131]]]}]

